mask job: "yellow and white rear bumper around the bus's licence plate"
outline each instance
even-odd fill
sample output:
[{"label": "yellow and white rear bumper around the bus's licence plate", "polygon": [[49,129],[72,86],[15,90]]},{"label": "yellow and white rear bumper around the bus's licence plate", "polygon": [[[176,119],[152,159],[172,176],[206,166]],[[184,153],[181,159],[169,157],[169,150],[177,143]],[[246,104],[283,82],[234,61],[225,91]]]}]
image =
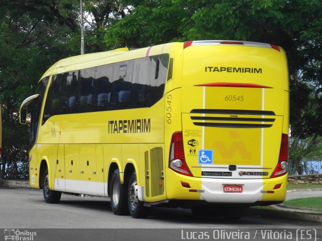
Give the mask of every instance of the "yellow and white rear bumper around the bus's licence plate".
[{"label": "yellow and white rear bumper around the bus's licence plate", "polygon": [[[188,183],[190,188],[183,187],[182,182]],[[224,184],[243,185],[243,192],[226,193],[223,191]],[[281,184],[281,187],[274,190],[277,184]],[[286,185],[287,175],[267,179],[220,179],[187,177],[167,170],[167,196],[170,200],[236,204],[281,202],[286,197]]]}]

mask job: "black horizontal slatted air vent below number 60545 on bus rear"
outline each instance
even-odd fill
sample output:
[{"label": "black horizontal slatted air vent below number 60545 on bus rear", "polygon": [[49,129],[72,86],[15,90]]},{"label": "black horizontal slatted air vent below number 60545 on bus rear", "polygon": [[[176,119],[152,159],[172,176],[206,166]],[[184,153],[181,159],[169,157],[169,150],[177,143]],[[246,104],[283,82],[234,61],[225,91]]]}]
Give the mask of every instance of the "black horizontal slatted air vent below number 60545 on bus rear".
[{"label": "black horizontal slatted air vent below number 60545 on bus rear", "polygon": [[270,128],[275,122],[275,113],[267,110],[193,109],[190,113],[193,124],[202,127]]}]

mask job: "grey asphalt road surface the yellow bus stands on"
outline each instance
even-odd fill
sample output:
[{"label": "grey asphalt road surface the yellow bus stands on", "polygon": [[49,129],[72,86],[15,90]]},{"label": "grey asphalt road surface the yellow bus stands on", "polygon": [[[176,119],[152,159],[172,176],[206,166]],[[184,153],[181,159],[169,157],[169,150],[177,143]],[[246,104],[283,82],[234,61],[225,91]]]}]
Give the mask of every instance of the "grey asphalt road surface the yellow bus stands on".
[{"label": "grey asphalt road surface the yellow bus stands on", "polygon": [[[321,195],[321,191],[288,196]],[[152,208],[146,219],[113,214],[109,198],[63,194],[58,204],[44,202],[35,189],[0,187],[0,228],[313,228],[320,223],[247,214],[238,221],[192,215],[190,209]]]}]

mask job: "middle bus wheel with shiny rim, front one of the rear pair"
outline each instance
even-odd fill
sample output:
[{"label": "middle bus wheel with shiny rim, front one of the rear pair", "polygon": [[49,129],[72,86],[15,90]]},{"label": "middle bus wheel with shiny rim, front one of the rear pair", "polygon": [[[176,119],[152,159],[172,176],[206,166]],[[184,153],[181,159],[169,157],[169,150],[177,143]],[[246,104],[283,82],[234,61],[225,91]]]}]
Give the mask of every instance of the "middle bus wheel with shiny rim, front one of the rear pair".
[{"label": "middle bus wheel with shiny rim, front one of the rear pair", "polygon": [[111,207],[115,215],[128,214],[126,189],[121,184],[119,169],[114,171],[111,179]]}]

